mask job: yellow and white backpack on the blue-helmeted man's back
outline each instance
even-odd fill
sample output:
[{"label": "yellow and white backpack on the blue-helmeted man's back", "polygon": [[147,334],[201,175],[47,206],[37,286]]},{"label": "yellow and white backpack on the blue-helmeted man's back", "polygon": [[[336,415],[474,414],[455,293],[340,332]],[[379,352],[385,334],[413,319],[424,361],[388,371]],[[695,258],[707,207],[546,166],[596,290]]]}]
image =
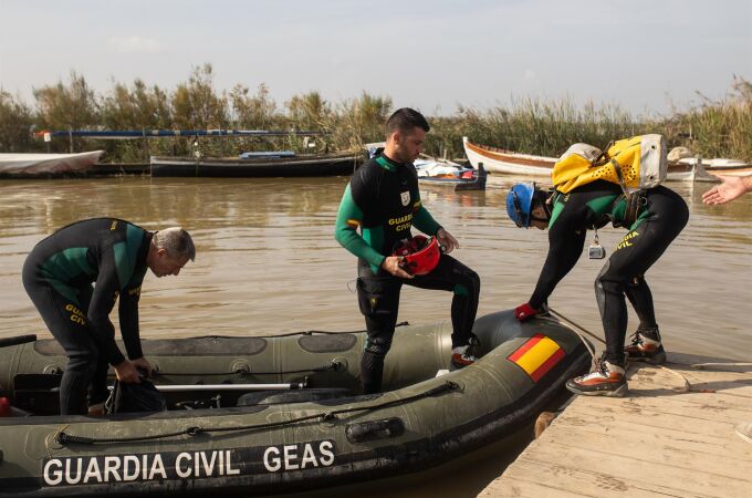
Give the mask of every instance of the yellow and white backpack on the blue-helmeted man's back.
[{"label": "yellow and white backpack on the blue-helmeted man's back", "polygon": [[598,179],[622,186],[625,195],[659,185],[666,178],[666,142],[662,135],[638,135],[616,141],[602,152],[574,144],[554,165],[551,179],[556,190],[568,194]]}]

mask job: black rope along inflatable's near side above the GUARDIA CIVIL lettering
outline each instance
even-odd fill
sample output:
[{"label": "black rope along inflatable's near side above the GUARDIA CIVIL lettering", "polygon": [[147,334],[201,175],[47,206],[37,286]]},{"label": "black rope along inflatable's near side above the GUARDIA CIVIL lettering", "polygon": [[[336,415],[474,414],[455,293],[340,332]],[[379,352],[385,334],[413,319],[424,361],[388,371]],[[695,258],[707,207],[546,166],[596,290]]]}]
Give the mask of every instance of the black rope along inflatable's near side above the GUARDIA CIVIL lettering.
[{"label": "black rope along inflatable's near side above the GUARDIA CIVIL lettering", "polygon": [[353,412],[376,412],[378,409],[384,409],[384,408],[390,408],[393,406],[399,406],[408,403],[412,403],[419,400],[424,400],[427,397],[434,397],[438,396],[445,393],[450,393],[450,392],[456,392],[456,391],[461,391],[461,386],[451,381],[447,381],[436,387],[432,387],[428,391],[425,391],[419,394],[415,394],[412,396],[407,396],[407,397],[401,397],[398,400],[391,400],[388,402],[379,403],[376,405],[369,405],[369,406],[353,406],[349,408],[341,408],[341,409],[334,409],[331,412],[324,412],[324,413],[316,413],[312,415],[306,415],[302,417],[296,417],[296,418],[291,418],[289,421],[280,421],[280,422],[269,422],[265,424],[248,424],[248,425],[241,425],[241,426],[236,426],[236,427],[201,427],[201,426],[192,426],[192,427],[187,427],[185,429],[180,430],[175,430],[171,433],[163,433],[163,434],[153,434],[150,436],[135,436],[135,437],[108,437],[108,438],[100,438],[100,437],[86,437],[86,436],[76,436],[73,434],[67,434],[65,430],[60,430],[55,437],[54,440],[58,442],[61,445],[69,445],[69,444],[81,444],[81,445],[96,445],[96,444],[113,444],[113,443],[133,443],[133,442],[144,442],[144,440],[154,440],[154,439],[165,439],[168,437],[176,437],[176,436],[197,436],[199,434],[207,434],[207,433],[227,433],[227,432],[236,432],[236,430],[257,430],[257,429],[269,429],[269,428],[276,428],[276,427],[283,427],[288,425],[293,425],[293,424],[300,424],[302,422],[309,422],[309,421],[315,421],[318,419],[321,422],[332,422],[337,419],[337,415],[346,414],[346,413],[353,413]]}]

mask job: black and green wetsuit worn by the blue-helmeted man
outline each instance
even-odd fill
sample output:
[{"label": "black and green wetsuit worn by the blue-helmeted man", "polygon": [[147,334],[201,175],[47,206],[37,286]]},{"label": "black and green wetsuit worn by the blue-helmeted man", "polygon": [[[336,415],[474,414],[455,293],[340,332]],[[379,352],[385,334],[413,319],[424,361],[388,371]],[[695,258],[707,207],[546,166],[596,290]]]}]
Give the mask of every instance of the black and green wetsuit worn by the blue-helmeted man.
[{"label": "black and green wetsuit worn by the blue-helmeted man", "polygon": [[[600,228],[614,221],[620,226],[626,203],[619,199],[620,187],[597,180],[571,191],[556,194],[549,224],[546,257],[530,305],[541,309],[556,284],[570,272],[582,255],[588,228]],[[616,250],[595,280],[595,294],[606,334],[606,360],[624,365],[624,340],[627,332],[629,299],[640,326],[657,326],[652,294],[645,272],[687,225],[689,210],[685,200],[664,186],[646,190],[646,205],[637,220],[617,245]]]}]

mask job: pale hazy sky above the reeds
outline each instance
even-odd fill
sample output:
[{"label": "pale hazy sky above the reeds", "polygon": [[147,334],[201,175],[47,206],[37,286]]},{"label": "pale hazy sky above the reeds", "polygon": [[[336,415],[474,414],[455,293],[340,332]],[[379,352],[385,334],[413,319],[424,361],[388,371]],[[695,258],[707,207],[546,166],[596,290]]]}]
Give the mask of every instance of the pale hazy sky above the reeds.
[{"label": "pale hazy sky above the reeds", "polygon": [[215,86],[265,83],[278,105],[362,91],[451,114],[512,97],[665,113],[752,81],[752,0],[0,0],[0,86],[75,70],[173,90],[210,63]]}]

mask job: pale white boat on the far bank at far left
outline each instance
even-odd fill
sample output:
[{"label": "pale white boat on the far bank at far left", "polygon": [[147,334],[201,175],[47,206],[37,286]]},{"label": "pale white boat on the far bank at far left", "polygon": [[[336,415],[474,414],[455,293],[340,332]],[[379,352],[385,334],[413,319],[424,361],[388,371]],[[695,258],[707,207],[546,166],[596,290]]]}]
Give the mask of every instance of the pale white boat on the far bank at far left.
[{"label": "pale white boat on the far bank at far left", "polygon": [[104,151],[80,154],[0,154],[0,177],[81,175],[91,169],[103,154]]}]

